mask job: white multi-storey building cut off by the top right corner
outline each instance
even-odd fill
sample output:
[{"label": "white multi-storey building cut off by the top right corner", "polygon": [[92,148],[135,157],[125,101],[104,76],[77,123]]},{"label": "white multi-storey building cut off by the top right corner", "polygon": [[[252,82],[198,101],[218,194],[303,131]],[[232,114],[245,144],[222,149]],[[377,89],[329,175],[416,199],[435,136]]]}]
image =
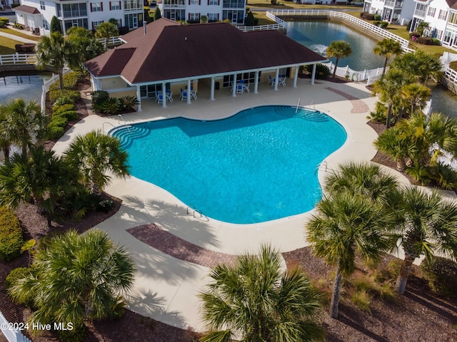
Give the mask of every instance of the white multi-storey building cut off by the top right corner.
[{"label": "white multi-storey building cut off by the top right corner", "polygon": [[424,36],[438,38],[443,46],[457,49],[457,0],[414,0],[416,9],[410,31],[425,21]]}]

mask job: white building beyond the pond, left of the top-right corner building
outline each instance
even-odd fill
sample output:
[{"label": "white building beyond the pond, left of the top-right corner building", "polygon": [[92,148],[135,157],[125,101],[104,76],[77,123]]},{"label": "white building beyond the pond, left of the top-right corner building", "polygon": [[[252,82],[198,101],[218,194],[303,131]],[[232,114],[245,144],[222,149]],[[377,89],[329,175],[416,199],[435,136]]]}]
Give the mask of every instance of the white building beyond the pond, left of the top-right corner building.
[{"label": "white building beyond the pond, left of the top-right corner building", "polygon": [[363,11],[379,14],[381,20],[393,24],[408,24],[413,19],[413,0],[365,0]]}]

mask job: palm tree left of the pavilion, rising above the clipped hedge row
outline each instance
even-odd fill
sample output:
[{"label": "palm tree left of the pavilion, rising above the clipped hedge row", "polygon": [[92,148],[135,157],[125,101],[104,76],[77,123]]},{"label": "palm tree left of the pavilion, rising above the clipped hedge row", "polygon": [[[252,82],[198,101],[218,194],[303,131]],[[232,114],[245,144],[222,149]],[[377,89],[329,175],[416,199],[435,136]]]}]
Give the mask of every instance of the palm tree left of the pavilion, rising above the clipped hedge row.
[{"label": "palm tree left of the pavilion, rising above the clipped hedge row", "polygon": [[59,74],[60,88],[64,88],[64,66],[71,53],[71,43],[64,39],[60,32],[51,33],[51,36],[43,36],[36,46],[36,65],[39,68],[53,66]]}]

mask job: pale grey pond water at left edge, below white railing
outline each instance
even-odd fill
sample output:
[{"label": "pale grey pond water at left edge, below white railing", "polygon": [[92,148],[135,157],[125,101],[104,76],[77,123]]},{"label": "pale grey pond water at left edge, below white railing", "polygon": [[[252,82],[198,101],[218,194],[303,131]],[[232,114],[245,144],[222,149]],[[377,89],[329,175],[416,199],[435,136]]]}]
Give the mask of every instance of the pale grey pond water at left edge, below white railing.
[{"label": "pale grey pond water at left edge, below white railing", "polygon": [[0,103],[6,103],[15,98],[34,100],[41,99],[41,86],[44,80],[49,80],[51,74],[0,76]]}]

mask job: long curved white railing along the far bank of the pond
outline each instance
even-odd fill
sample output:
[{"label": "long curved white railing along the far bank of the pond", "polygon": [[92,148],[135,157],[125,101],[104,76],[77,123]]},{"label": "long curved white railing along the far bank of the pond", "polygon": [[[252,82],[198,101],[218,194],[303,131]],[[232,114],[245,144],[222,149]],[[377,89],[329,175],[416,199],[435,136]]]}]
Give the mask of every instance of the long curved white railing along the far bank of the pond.
[{"label": "long curved white railing along the far bank of the pond", "polygon": [[328,16],[330,18],[341,19],[348,23],[355,24],[356,26],[362,29],[371,31],[372,33],[375,33],[376,35],[381,36],[383,38],[389,38],[393,39],[394,41],[398,41],[398,43],[401,44],[401,48],[405,52],[414,52],[412,48],[408,47],[409,41],[405,38],[401,38],[400,36],[397,36],[396,34],[393,34],[385,30],[384,28],[380,28],[373,24],[367,23],[362,19],[358,19],[355,16],[351,16],[351,14],[346,14],[343,12],[328,11],[326,9],[276,9],[272,11],[267,11],[266,16],[274,21],[276,21],[275,18],[277,18],[278,16]]}]

